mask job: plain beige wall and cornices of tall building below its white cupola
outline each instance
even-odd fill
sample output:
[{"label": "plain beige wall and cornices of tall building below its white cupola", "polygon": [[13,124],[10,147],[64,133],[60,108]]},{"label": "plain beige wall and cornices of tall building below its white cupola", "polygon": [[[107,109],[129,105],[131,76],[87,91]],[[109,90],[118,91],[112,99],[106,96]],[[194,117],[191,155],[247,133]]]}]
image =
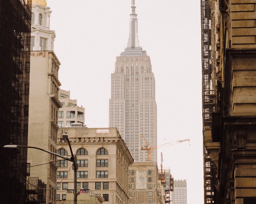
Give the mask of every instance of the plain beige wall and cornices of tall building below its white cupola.
[{"label": "plain beige wall and cornices of tall building below its white cupola", "polygon": [[[51,152],[57,152],[58,100],[59,86],[58,70],[60,62],[53,51],[32,51],[30,66],[30,106],[28,146],[39,147]],[[38,177],[47,188],[56,186],[55,156],[39,150],[28,149],[30,177]],[[54,202],[56,187],[46,192],[47,203]]]}]

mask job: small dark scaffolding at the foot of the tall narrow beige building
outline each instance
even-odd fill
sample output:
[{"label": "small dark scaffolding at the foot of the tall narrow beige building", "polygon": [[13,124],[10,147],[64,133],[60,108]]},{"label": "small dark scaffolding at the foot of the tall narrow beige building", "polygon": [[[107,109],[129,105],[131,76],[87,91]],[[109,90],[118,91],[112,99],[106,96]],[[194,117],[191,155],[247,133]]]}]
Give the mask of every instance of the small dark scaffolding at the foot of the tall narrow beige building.
[{"label": "small dark scaffolding at the foot of the tall narrow beige building", "polygon": [[27,182],[27,202],[30,204],[46,203],[46,184],[38,177],[29,177]]}]

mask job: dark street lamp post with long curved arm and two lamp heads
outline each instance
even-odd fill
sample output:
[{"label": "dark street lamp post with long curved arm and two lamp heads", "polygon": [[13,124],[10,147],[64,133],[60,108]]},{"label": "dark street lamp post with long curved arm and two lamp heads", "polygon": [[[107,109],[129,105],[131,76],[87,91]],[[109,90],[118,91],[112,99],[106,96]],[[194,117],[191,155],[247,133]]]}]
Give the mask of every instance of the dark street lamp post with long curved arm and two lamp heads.
[{"label": "dark street lamp post with long curved arm and two lamp heads", "polygon": [[44,150],[44,149],[41,149],[41,148],[38,148],[38,147],[13,145],[12,143],[10,145],[5,145],[4,148],[18,148],[18,147],[20,147],[20,148],[37,149],[37,150],[41,150],[43,152],[47,152],[49,154],[53,154],[55,156],[58,156],[60,158],[63,158],[65,160],[73,162],[73,168],[74,168],[74,192],[73,192],[74,193],[74,204],[77,204],[77,196],[78,196],[78,192],[77,192],[77,169],[78,169],[77,158],[76,158],[76,155],[73,154],[73,151],[72,151],[72,148],[71,148],[70,141],[68,139],[67,133],[64,133],[62,135],[62,137],[63,137],[64,141],[68,142],[68,145],[69,145],[69,148],[70,148],[70,152],[71,152],[71,158],[68,158],[66,156],[63,156],[63,155],[60,155],[60,154],[56,154],[56,153],[53,153],[53,152],[50,152],[48,150]]}]

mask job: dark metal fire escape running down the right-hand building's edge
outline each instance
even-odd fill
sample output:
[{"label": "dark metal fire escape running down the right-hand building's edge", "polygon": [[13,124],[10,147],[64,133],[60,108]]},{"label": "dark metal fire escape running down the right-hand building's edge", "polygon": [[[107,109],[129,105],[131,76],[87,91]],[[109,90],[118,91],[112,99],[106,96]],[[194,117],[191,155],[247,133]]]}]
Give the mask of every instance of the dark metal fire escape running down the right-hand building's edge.
[{"label": "dark metal fire escape running down the right-hand building's edge", "polygon": [[[212,113],[216,109],[216,90],[212,79],[213,69],[211,61],[211,4],[210,0],[201,0],[201,40],[202,40],[202,114],[203,139],[205,130],[212,127]],[[213,73],[215,74],[215,73]],[[204,145],[204,203],[214,203],[213,163]]]}]

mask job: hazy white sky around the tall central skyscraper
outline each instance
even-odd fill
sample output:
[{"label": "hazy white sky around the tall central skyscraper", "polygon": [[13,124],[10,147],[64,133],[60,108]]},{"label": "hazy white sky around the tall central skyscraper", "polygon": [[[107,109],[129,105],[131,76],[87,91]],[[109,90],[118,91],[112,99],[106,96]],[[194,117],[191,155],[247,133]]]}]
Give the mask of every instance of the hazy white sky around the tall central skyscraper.
[{"label": "hazy white sky around the tall central skyscraper", "polygon": [[[110,74],[129,35],[130,0],[47,0],[61,88],[85,107],[88,127],[108,127]],[[174,179],[187,180],[188,204],[203,204],[200,1],[135,0],[140,46],[156,79],[158,149]]]}]

